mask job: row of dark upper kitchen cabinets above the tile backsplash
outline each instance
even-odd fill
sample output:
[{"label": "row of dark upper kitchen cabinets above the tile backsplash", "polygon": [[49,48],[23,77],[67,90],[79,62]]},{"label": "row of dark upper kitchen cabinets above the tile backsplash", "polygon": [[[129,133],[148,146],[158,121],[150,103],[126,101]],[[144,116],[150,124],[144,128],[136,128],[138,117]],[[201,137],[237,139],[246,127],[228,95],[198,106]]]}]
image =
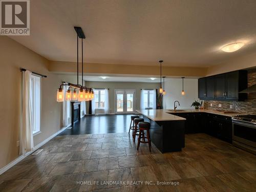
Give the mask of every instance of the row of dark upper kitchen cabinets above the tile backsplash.
[{"label": "row of dark upper kitchen cabinets above the tile backsplash", "polygon": [[[204,88],[203,83],[200,83],[203,81],[205,81]],[[246,88],[247,71],[244,70],[198,79],[198,96],[203,100],[245,100],[247,99],[247,94],[239,92]]]}]

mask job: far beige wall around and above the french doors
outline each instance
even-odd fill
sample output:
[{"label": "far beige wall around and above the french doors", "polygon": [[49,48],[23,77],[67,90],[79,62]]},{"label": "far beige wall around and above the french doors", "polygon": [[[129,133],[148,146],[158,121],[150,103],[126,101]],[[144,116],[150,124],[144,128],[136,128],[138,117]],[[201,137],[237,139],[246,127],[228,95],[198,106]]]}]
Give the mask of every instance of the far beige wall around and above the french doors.
[{"label": "far beige wall around and above the french doors", "polygon": [[[135,89],[136,110],[140,108],[140,91],[141,89],[159,89],[160,83],[146,82],[98,82],[86,81],[86,86],[94,89],[109,88],[110,113],[115,113],[115,89]],[[88,105],[88,102],[87,102]]]}]

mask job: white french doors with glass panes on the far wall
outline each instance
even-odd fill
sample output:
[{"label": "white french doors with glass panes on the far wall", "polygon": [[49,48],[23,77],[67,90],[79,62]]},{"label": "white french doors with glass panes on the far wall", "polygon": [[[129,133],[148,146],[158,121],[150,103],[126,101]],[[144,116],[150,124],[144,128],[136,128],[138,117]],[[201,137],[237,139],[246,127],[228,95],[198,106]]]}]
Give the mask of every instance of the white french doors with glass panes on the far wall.
[{"label": "white french doors with glass panes on the far wall", "polygon": [[115,113],[135,112],[135,90],[115,90]]}]

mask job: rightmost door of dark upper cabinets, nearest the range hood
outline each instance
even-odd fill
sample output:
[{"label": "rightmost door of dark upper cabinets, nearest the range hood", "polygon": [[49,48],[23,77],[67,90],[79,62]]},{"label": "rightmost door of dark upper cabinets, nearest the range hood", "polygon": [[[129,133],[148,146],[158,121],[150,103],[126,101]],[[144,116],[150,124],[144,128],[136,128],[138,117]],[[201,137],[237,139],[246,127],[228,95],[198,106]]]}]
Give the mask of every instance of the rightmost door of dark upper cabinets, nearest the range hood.
[{"label": "rightmost door of dark upper cabinets, nearest the range hood", "polygon": [[226,74],[226,99],[238,99],[238,78],[238,71]]}]

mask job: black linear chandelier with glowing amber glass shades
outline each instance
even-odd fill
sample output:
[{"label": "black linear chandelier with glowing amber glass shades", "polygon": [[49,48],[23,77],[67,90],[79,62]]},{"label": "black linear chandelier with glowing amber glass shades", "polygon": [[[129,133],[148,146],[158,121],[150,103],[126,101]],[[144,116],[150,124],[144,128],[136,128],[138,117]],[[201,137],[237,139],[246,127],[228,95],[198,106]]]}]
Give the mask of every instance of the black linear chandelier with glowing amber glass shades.
[{"label": "black linear chandelier with glowing amber glass shades", "polygon": [[[81,70],[82,70],[82,83],[79,84],[78,82],[78,72],[79,72],[79,62],[78,62],[78,40],[81,39],[81,42],[83,39],[86,38],[84,35],[82,28],[80,27],[74,27],[76,33],[77,33],[77,84],[68,83],[68,84],[60,84],[59,89],[57,90],[57,101],[62,102],[64,100],[71,101],[71,100],[78,100],[78,101],[90,101],[94,98],[94,93],[92,88],[87,88],[83,86],[83,45],[81,46],[82,51],[82,62],[81,62]],[[61,87],[68,86],[68,90],[66,93],[63,92],[63,89]],[[73,89],[73,91],[71,90]],[[65,96],[64,96],[65,94]]]}]

